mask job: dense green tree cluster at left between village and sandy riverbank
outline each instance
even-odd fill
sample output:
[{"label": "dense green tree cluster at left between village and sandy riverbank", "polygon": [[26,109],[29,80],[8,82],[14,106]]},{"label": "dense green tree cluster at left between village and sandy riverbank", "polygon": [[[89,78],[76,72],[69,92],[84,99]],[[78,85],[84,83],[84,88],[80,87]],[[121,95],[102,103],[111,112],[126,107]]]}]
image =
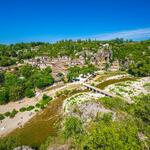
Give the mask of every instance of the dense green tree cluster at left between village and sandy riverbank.
[{"label": "dense green tree cluster at left between village and sandy riverbank", "polygon": [[14,72],[0,72],[0,104],[33,97],[35,88],[52,85],[54,79],[51,68],[40,70],[30,65],[16,68]]}]

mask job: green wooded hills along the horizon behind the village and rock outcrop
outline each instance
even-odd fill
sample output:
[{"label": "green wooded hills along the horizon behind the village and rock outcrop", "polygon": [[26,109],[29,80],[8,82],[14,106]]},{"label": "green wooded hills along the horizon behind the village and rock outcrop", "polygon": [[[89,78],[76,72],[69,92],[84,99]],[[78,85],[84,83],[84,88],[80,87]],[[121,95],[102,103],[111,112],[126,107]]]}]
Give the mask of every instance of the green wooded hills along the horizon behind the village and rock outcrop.
[{"label": "green wooded hills along the horizon behind the village and rock outcrop", "polygon": [[[87,60],[89,59],[89,56],[86,54],[87,51],[94,54],[100,49],[100,45],[105,43],[110,44],[110,48],[113,51],[113,60],[119,60],[121,70],[130,69],[132,74],[147,75],[145,68],[149,67],[149,61],[147,60],[150,59],[150,40],[142,42],[123,39],[110,41],[63,40],[56,43],[32,42],[0,45],[0,66],[9,66],[16,62],[23,62],[22,60],[24,59],[45,55],[49,57],[69,56],[73,59],[81,53]],[[141,69],[141,67],[138,67],[139,64],[144,64],[142,71],[145,70],[145,73],[135,73],[135,69]]]}]

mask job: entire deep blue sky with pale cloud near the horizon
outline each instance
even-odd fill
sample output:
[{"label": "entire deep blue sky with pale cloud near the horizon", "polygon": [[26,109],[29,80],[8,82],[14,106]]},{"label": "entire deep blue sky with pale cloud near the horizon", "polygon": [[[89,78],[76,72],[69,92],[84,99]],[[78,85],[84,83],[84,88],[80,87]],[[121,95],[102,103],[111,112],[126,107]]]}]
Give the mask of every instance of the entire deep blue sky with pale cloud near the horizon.
[{"label": "entire deep blue sky with pale cloud near the horizon", "polygon": [[0,43],[150,39],[150,0],[0,0]]}]

